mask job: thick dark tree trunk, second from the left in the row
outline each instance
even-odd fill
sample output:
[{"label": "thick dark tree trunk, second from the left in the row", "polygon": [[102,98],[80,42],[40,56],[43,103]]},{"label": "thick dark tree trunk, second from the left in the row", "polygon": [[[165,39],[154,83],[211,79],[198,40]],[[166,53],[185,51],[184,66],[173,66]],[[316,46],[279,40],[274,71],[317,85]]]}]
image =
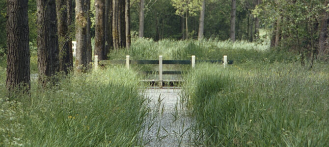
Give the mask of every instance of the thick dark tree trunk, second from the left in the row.
[{"label": "thick dark tree trunk, second from the left in the row", "polygon": [[42,87],[55,82],[59,51],[55,0],[37,0],[38,81]]}]

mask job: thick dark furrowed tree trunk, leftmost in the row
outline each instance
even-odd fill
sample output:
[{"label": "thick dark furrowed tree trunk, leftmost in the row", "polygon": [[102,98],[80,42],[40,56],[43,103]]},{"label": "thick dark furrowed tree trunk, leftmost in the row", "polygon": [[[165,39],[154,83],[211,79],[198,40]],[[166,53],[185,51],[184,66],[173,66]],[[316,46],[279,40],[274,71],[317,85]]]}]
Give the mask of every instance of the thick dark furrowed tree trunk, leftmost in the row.
[{"label": "thick dark furrowed tree trunk, leftmost in the row", "polygon": [[[7,79],[11,95],[16,88],[30,90],[28,0],[7,0]],[[19,22],[19,23],[18,23]]]}]

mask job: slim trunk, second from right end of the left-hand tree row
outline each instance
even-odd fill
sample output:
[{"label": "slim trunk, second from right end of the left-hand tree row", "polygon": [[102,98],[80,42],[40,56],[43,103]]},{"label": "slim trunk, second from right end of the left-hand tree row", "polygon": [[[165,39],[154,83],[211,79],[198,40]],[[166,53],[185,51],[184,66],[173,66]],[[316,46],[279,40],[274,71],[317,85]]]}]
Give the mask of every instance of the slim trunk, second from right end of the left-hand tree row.
[{"label": "slim trunk, second from right end of the left-hand tree row", "polygon": [[126,47],[126,23],[125,23],[125,12],[126,12],[126,2],[125,0],[119,0],[120,2],[120,47],[125,48]]}]

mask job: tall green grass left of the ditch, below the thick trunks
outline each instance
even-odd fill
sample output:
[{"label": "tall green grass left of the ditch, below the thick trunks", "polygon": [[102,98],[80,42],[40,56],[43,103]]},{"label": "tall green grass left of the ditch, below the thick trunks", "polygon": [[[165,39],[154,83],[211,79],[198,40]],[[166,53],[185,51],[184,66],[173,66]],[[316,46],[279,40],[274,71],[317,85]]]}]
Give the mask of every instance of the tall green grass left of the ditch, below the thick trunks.
[{"label": "tall green grass left of the ditch, below the thick trunks", "polygon": [[32,80],[30,101],[8,101],[0,95],[0,146],[142,144],[140,132],[149,108],[136,73],[113,67],[59,78],[57,86],[44,91]]}]

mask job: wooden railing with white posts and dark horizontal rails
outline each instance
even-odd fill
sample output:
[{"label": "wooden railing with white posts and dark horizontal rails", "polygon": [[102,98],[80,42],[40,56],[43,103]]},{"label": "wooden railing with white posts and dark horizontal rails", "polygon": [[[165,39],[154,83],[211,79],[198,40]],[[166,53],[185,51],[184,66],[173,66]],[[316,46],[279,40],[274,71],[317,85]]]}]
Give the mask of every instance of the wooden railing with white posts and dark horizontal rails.
[{"label": "wooden railing with white posts and dark horizontal rails", "polygon": [[233,60],[227,61],[227,56],[223,56],[223,60],[195,60],[195,56],[193,55],[191,57],[191,60],[163,60],[163,56],[159,56],[159,60],[130,60],[130,56],[126,56],[126,60],[101,60],[98,61],[98,56],[94,56],[94,70],[98,70],[99,64],[126,64],[126,68],[130,69],[130,65],[132,64],[153,64],[153,65],[159,65],[159,71],[142,71],[142,73],[146,74],[159,74],[159,79],[157,80],[143,80],[143,81],[149,81],[149,82],[159,82],[159,87],[163,87],[163,82],[180,82],[181,80],[164,80],[163,74],[183,74],[186,73],[186,71],[163,71],[163,65],[164,64],[171,64],[171,65],[191,65],[192,68],[195,67],[195,63],[201,63],[201,62],[209,62],[209,63],[220,63],[223,64],[224,67],[226,67],[228,64],[233,64]]}]

